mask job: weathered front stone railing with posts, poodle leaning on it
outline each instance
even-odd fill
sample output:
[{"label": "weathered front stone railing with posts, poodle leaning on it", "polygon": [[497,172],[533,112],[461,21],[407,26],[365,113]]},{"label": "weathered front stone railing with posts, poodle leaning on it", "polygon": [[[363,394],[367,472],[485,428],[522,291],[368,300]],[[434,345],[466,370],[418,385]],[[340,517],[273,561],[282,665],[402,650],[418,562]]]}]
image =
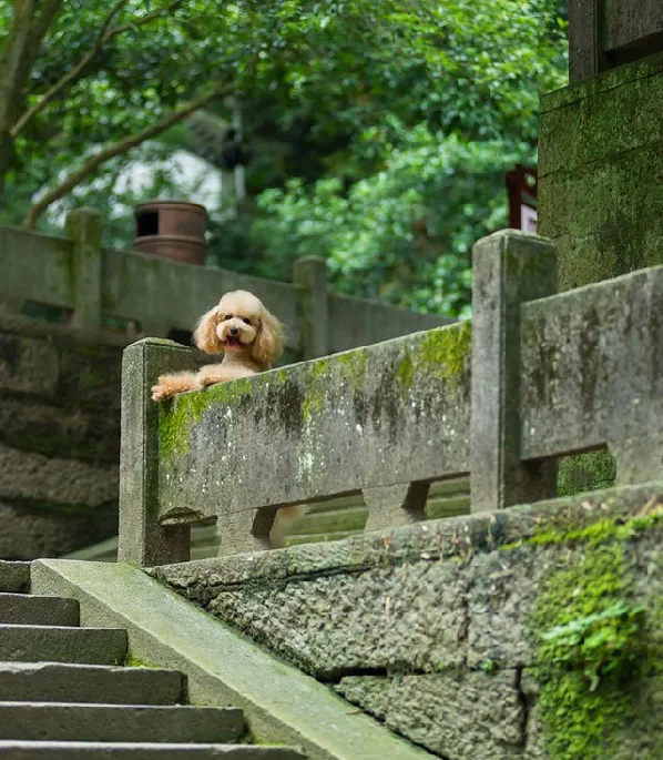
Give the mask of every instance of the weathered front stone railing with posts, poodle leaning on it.
[{"label": "weathered front stone railing with posts, poodle leaning on it", "polygon": [[366,529],[422,519],[429,484],[470,475],[472,511],[554,495],[555,457],[608,446],[619,484],[663,475],[663,266],[553,295],[555,250],[513,231],[473,252],[473,321],[156,405],[190,349],[125,349],[119,558],[268,546],[277,509],[358,493]]}]

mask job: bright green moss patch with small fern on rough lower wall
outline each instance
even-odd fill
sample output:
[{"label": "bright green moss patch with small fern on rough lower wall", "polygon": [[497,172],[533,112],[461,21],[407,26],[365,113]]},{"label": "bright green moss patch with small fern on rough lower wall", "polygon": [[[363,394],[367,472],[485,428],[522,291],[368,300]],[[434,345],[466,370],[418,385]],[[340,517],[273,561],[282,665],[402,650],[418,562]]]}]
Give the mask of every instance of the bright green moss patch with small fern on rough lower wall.
[{"label": "bright green moss patch with small fern on rough lower wall", "polygon": [[610,757],[620,726],[633,715],[643,612],[619,540],[560,555],[541,584],[532,624],[539,707],[554,760]]}]

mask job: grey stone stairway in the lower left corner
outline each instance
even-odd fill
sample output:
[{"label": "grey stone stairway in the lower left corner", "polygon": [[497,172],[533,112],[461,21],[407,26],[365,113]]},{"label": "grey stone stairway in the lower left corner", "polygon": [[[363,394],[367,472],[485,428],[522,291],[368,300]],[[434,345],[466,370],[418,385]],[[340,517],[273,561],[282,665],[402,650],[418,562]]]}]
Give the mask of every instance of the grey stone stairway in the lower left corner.
[{"label": "grey stone stairway in the lower left corner", "polygon": [[78,601],[29,586],[29,563],[0,561],[3,760],[303,760],[241,743],[242,710],[182,705],[183,673],[125,667],[125,630],[80,628]]}]

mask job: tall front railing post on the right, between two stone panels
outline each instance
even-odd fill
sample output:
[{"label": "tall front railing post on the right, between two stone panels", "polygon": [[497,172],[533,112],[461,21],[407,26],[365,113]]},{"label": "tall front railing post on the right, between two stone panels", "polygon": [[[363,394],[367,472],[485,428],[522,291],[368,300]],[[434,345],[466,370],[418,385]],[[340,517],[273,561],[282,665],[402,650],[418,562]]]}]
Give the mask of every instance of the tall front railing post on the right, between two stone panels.
[{"label": "tall front railing post on the right, between two stone panels", "polygon": [[472,256],[471,510],[555,495],[554,462],[520,459],[520,304],[555,292],[555,249],[514,230],[480,240]]}]

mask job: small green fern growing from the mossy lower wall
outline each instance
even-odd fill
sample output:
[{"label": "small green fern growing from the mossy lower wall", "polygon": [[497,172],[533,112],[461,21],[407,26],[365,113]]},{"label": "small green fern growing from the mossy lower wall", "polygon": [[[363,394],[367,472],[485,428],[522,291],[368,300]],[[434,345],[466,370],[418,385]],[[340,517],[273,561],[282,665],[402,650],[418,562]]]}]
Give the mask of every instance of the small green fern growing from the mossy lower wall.
[{"label": "small green fern growing from the mossy lower wall", "polygon": [[580,668],[594,691],[609,673],[629,673],[643,655],[644,608],[616,601],[602,612],[579,617],[541,635],[549,662]]}]

